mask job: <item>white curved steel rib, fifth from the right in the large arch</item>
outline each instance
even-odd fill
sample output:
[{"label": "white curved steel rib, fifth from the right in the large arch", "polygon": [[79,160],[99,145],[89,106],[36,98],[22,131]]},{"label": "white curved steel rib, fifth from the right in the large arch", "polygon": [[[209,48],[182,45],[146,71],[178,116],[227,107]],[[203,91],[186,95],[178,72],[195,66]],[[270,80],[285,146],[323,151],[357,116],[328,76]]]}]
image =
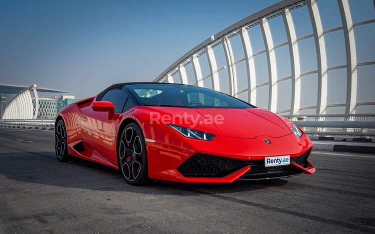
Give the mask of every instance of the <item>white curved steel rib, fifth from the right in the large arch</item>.
[{"label": "white curved steel rib, fifth from the right in the large arch", "polygon": [[242,27],[239,30],[242,40],[242,47],[245,53],[246,70],[247,70],[247,101],[256,105],[256,80],[255,80],[255,63],[252,53],[250,37],[248,36],[247,29]]}]

